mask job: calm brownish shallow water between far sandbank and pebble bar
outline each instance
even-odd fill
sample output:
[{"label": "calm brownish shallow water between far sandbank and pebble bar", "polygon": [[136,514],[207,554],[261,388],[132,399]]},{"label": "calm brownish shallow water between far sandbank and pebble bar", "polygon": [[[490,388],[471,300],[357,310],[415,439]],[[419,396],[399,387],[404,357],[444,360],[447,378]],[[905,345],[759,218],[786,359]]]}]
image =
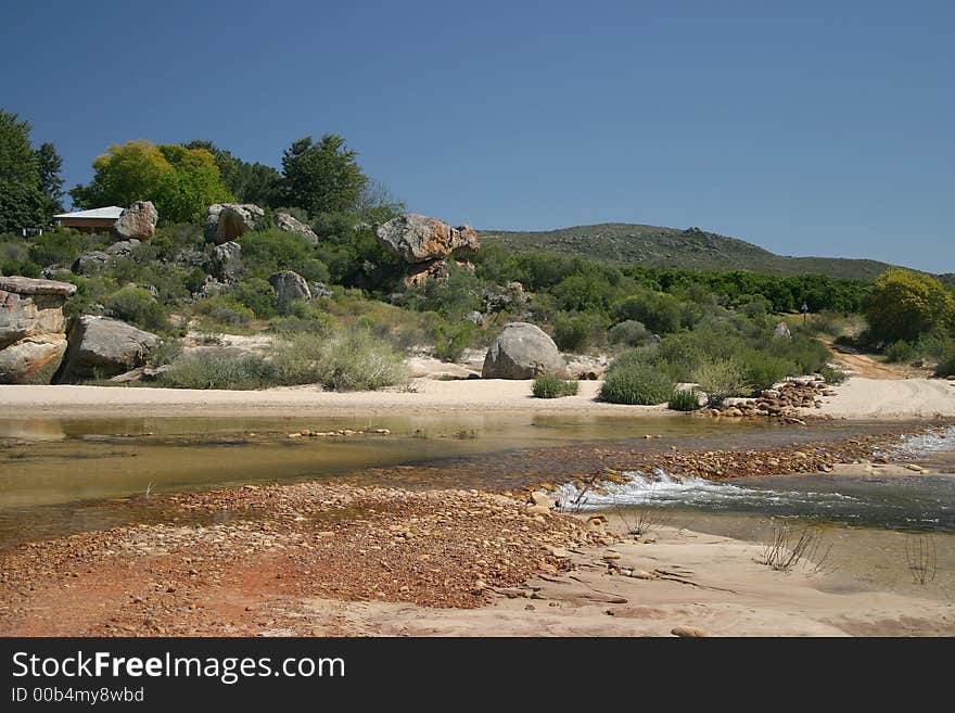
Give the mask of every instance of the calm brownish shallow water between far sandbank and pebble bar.
[{"label": "calm brownish shallow water between far sandbank and pebble bar", "polygon": [[[290,438],[353,429],[390,435]],[[601,444],[635,450],[757,448],[891,430],[705,418],[498,413],[441,418],[0,418],[0,547],[168,517],[152,495],[348,475],[393,486],[500,489],[600,467]],[[653,435],[646,440],[645,435]],[[568,451],[574,446],[573,453]],[[563,450],[553,450],[563,448]]]}]

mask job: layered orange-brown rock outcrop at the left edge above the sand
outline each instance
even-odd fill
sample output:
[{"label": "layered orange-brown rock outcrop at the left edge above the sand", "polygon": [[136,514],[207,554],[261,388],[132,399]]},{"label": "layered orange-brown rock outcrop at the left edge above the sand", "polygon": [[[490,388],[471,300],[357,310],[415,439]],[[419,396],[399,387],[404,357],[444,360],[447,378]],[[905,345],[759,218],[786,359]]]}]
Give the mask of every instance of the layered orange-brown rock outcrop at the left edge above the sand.
[{"label": "layered orange-brown rock outcrop at the left edge above the sand", "polygon": [[66,352],[63,307],[76,285],[0,277],[0,384],[49,383]]}]

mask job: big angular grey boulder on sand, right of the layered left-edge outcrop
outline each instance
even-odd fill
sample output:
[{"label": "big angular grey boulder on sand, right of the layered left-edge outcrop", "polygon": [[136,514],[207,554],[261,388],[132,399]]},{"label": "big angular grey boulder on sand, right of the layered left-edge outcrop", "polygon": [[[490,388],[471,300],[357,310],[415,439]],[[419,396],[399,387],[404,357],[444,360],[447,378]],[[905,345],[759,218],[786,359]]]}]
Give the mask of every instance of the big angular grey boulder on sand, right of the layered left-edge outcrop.
[{"label": "big angular grey boulder on sand, right of the layered left-edge outcrop", "polygon": [[69,345],[55,379],[113,377],[145,364],[162,340],[118,319],[80,317],[69,330]]}]

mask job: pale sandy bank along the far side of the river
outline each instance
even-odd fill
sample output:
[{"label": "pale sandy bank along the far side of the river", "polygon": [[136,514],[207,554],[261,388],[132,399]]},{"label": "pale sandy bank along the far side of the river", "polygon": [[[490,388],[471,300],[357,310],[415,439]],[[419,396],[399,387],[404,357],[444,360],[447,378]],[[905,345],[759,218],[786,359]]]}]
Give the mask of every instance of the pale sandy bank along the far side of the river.
[{"label": "pale sandy bank along the far side of the river", "polygon": [[[533,412],[601,416],[675,415],[661,406],[596,400],[599,381],[564,398],[531,395],[530,381],[418,378],[408,390],[331,393],[313,386],[265,391],[193,391],[126,386],[0,386],[0,417],[40,416],[384,416],[395,412]],[[861,420],[955,417],[955,382],[851,379],[810,416]]]}]

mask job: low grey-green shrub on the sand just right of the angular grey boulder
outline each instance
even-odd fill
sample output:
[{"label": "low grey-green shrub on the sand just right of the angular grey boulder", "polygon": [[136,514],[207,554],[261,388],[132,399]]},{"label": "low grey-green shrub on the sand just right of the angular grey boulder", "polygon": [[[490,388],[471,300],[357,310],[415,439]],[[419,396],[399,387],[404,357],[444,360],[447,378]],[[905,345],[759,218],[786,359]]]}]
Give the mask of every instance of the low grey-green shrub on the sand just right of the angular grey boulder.
[{"label": "low grey-green shrub on the sand just right of the angular grey boulder", "polygon": [[160,378],[173,389],[263,389],[275,383],[276,368],[255,354],[205,354],[177,360]]}]

